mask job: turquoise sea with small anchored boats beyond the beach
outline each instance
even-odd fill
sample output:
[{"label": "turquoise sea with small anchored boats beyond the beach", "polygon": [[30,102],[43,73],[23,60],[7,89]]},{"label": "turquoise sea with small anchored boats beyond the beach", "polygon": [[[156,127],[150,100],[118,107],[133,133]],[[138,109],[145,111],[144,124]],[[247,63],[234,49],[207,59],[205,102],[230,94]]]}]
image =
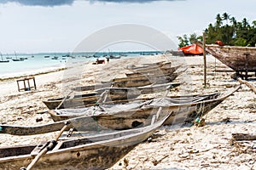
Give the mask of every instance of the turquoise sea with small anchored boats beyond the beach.
[{"label": "turquoise sea with small anchored boats beyond the beach", "polygon": [[[43,73],[46,71],[55,71],[56,69],[66,67],[67,62],[86,62],[98,59],[106,59],[110,56],[114,58],[133,58],[143,55],[162,54],[157,51],[146,52],[111,52],[111,53],[38,53],[38,54],[2,54],[0,60],[9,60],[9,62],[0,62],[0,79],[8,77],[20,77]],[[20,59],[20,61],[14,61]]]}]

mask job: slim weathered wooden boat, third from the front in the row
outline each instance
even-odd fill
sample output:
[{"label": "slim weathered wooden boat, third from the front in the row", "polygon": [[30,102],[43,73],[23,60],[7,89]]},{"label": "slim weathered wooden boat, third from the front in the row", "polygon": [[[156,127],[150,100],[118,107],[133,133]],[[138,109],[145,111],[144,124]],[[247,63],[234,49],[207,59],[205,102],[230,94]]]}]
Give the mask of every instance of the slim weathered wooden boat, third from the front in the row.
[{"label": "slim weathered wooden boat, third from the front in the row", "polygon": [[141,94],[151,94],[166,90],[166,88],[175,88],[180,83],[170,82],[165,84],[159,84],[154,86],[145,86],[139,88],[99,88],[95,92],[90,94],[75,95],[73,98],[67,96],[66,98],[48,99],[44,102],[49,109],[55,108],[76,108],[85,107],[87,105],[96,105],[96,102],[102,97],[101,94],[108,91],[108,96],[105,102],[108,101],[119,101],[125,99],[135,99]]}]

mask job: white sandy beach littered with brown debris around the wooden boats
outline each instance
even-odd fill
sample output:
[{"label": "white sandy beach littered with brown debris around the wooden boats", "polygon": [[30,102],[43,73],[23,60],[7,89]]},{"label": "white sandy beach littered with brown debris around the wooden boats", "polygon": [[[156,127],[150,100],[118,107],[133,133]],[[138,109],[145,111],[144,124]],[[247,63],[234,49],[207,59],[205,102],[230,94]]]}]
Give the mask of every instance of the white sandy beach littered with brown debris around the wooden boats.
[{"label": "white sandy beach littered with brown debris around the wooden boats", "polygon": [[[90,63],[73,70],[36,76],[38,89],[35,91],[18,92],[15,79],[0,82],[0,124],[32,126],[53,122],[44,113],[47,108],[42,100],[65,96],[70,88],[78,85],[125,77],[127,65],[166,59],[172,59],[173,65],[183,63],[188,68],[174,81],[183,84],[169,95],[224,93],[230,90],[230,85],[239,84],[231,79],[232,72],[215,72],[230,69],[211,55],[207,56],[207,88],[203,87],[201,56],[113,59],[105,65]],[[254,80],[250,82],[256,86]],[[138,144],[110,169],[256,169],[256,141],[230,142],[232,133],[256,133],[256,94],[245,85],[241,87],[204,117],[204,127],[161,127],[159,138]],[[36,122],[37,118],[43,118],[43,121]],[[41,140],[54,138],[56,133],[22,137],[0,134],[0,146],[38,144]]]}]

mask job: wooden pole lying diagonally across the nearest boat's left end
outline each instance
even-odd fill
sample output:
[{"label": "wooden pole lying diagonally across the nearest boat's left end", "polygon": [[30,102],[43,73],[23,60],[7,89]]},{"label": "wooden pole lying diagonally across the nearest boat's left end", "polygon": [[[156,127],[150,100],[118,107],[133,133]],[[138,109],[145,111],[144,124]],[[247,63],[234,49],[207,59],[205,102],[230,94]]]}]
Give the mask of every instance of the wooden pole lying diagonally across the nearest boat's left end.
[{"label": "wooden pole lying diagonally across the nearest boat's left end", "polygon": [[44,148],[44,150],[41,150],[38,155],[32,160],[32,162],[27,167],[21,167],[20,170],[31,170],[32,167],[39,161],[39,159],[46,154],[49,150],[51,150],[54,146],[56,141],[61,137],[61,134],[65,131],[67,128],[68,122],[65,123],[64,127],[61,128],[60,133],[56,136],[55,140],[51,140],[49,145]]}]

